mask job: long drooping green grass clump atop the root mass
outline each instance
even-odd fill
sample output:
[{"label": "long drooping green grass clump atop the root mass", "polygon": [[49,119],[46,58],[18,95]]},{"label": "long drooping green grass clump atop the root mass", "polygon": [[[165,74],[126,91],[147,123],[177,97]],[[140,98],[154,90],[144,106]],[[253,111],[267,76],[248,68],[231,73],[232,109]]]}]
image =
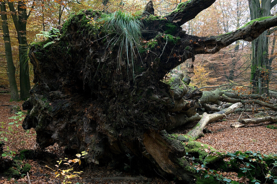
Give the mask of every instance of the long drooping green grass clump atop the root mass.
[{"label": "long drooping green grass clump atop the root mass", "polygon": [[108,43],[110,50],[114,46],[119,46],[118,67],[120,60],[127,63],[127,73],[129,73],[132,64],[132,73],[134,79],[135,73],[135,48],[140,47],[141,16],[128,12],[116,11],[111,14],[102,14],[97,20],[102,25],[102,32],[106,35],[112,35],[111,41]]}]

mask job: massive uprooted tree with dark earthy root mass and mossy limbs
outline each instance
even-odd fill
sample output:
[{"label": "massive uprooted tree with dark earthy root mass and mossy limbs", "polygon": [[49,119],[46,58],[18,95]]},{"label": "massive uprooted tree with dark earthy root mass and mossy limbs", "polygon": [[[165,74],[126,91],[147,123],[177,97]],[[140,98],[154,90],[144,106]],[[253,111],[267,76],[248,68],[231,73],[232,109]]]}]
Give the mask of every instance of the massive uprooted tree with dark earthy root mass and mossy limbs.
[{"label": "massive uprooted tree with dark earthy root mass and mossy limbs", "polygon": [[[223,35],[187,35],[180,26],[214,1],[187,1],[165,17],[152,15],[151,1],[142,17],[94,10],[72,14],[60,40],[31,44],[36,84],[23,104],[28,110],[23,128],[35,128],[40,148],[54,143],[71,151],[90,148],[86,159],[96,164],[129,154],[137,158],[137,168],[156,167],[161,174],[194,183],[189,161],[183,159],[185,144],[166,130],[196,115],[202,91],[184,85],[178,73],[169,85],[162,81],[165,74],[189,58],[194,61],[196,54],[252,41],[277,25],[277,17],[266,17]],[[138,30],[140,37],[134,35]],[[212,117],[203,114],[208,120],[199,122],[199,131],[185,141],[201,136],[209,119],[224,117],[243,102],[233,103]]]}]

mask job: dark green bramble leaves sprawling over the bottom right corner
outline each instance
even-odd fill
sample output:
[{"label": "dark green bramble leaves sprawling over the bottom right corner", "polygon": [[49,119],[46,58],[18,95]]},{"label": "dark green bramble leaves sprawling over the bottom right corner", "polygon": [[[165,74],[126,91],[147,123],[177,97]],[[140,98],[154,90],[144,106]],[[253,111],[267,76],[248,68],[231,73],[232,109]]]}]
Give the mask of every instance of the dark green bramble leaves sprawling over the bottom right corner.
[{"label": "dark green bramble leaves sprawling over the bottom right corner", "polygon": [[[250,182],[253,184],[261,184],[261,181],[258,180],[256,177],[258,177],[259,179],[264,177],[264,183],[270,180],[270,182],[277,184],[277,176],[271,173],[272,170],[277,167],[277,155],[266,155],[261,154],[260,152],[255,153],[253,151],[236,151],[235,153],[220,153],[217,151],[213,151],[212,154],[225,156],[224,161],[229,162],[229,166],[231,166],[230,169],[244,174],[245,176],[241,176],[241,179],[245,180],[245,182],[247,183]],[[204,159],[204,161],[201,161],[194,157],[186,158],[188,158],[190,164],[193,165],[193,169],[196,170],[196,173],[202,173],[204,178],[209,178],[210,176],[212,176],[216,180],[219,180],[220,183],[228,184],[232,182],[232,179],[230,179],[230,177],[226,177],[226,175],[224,175],[227,174],[226,172],[207,168],[206,164],[208,163],[206,162],[206,159]]]}]

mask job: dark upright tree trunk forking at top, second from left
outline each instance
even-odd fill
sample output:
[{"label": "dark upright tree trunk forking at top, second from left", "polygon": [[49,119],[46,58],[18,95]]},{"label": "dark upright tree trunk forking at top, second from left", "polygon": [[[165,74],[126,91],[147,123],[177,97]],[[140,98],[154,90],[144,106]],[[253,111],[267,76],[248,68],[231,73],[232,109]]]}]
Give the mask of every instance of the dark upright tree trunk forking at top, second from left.
[{"label": "dark upright tree trunk forking at top, second from left", "polygon": [[29,15],[25,9],[25,4],[22,1],[18,2],[17,15],[14,9],[14,4],[9,2],[9,9],[12,12],[12,19],[17,31],[17,39],[19,44],[19,77],[20,77],[20,99],[26,100],[30,97],[30,77],[29,77],[29,58],[28,58],[28,43],[26,38],[26,25]]}]

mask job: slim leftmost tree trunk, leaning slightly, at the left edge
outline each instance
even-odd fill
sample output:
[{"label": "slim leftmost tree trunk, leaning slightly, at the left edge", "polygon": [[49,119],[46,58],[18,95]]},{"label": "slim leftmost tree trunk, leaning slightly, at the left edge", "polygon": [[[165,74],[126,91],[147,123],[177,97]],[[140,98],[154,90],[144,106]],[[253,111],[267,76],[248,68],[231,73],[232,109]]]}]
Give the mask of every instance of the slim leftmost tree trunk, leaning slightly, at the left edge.
[{"label": "slim leftmost tree trunk, leaning slightly, at the left edge", "polygon": [[1,19],[2,19],[2,28],[3,28],[3,38],[5,43],[5,53],[6,53],[6,59],[7,59],[7,74],[9,78],[9,84],[10,84],[10,90],[11,90],[11,101],[18,101],[19,95],[18,95],[18,89],[16,84],[16,78],[15,78],[15,67],[14,62],[12,59],[12,48],[11,48],[11,39],[9,34],[9,27],[7,23],[7,10],[6,10],[6,4],[1,3]]}]

